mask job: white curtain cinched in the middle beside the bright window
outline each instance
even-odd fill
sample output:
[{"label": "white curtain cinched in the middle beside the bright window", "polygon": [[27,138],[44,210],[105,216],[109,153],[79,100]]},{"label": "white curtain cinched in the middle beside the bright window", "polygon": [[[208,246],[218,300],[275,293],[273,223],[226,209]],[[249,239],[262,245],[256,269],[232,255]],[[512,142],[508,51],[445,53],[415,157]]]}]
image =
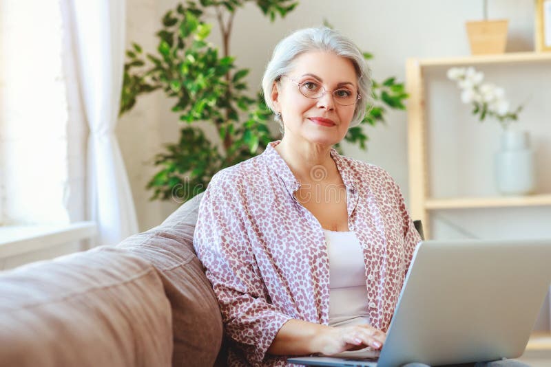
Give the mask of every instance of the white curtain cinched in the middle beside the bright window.
[{"label": "white curtain cinched in the middle beside the bright window", "polygon": [[68,0],[79,89],[90,127],[87,216],[96,243],[115,245],[138,232],[136,210],[115,136],[125,55],[125,0]]}]

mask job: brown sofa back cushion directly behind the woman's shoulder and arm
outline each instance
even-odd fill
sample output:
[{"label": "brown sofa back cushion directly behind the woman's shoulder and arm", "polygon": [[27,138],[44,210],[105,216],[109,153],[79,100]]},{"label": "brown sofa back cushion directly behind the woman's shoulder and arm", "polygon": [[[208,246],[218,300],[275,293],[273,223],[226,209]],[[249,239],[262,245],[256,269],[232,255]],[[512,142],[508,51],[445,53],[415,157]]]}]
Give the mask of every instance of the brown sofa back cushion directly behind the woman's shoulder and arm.
[{"label": "brown sofa back cushion directly behind the woman's shoulder and arm", "polygon": [[218,301],[193,247],[201,197],[181,205],[161,225],[117,245],[152,263],[163,280],[172,307],[172,366],[212,366],[222,344]]}]

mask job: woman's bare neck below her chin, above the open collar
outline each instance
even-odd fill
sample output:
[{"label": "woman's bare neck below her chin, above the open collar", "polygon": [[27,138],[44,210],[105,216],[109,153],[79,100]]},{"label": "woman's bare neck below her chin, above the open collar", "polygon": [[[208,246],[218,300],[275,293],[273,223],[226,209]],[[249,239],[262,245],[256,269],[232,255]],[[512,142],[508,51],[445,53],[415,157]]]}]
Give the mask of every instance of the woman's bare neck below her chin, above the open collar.
[{"label": "woman's bare neck below her chin, above the open collar", "polygon": [[[288,136],[289,134],[282,137],[280,144],[275,146],[275,151],[300,182],[320,181],[320,175],[331,177],[337,169],[331,158],[331,145],[298,142]],[[324,173],[322,169],[315,168],[316,166],[323,166]]]}]

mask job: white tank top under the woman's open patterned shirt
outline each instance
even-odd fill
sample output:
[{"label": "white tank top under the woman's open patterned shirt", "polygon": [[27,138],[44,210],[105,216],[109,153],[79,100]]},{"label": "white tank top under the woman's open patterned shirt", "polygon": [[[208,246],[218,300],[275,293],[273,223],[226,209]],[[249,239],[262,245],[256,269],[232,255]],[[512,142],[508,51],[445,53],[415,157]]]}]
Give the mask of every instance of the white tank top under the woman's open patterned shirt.
[{"label": "white tank top under the woman's open patterned shirt", "polygon": [[325,230],[329,254],[329,326],[368,322],[364,252],[355,232]]}]

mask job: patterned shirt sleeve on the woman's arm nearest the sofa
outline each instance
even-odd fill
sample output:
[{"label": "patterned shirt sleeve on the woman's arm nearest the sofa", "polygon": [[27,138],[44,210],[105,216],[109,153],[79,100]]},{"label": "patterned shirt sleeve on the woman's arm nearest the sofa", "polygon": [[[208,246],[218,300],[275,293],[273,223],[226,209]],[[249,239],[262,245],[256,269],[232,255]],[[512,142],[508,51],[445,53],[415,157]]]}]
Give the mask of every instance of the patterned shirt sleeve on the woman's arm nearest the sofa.
[{"label": "patterned shirt sleeve on the woman's arm nearest the sofa", "polygon": [[247,236],[254,226],[244,195],[215,177],[201,199],[194,248],[220,304],[225,332],[245,351],[249,363],[260,366],[275,335],[291,317],[267,300]]}]

